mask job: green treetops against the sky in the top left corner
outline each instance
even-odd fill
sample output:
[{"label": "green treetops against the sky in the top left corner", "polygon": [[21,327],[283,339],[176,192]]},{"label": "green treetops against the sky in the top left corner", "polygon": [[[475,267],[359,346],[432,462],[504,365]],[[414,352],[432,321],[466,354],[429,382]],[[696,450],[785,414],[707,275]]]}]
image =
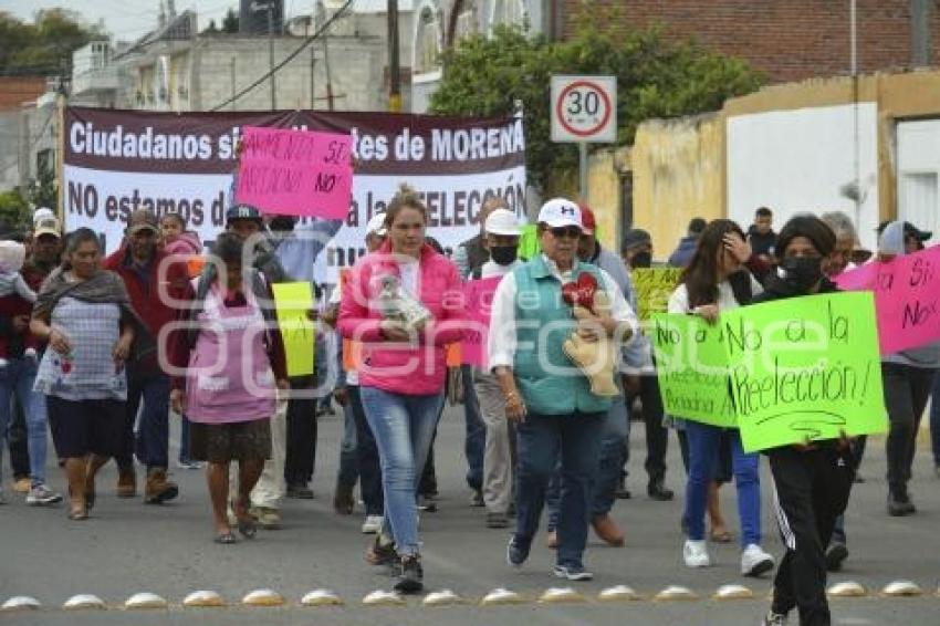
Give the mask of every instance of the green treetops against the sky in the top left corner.
[{"label": "green treetops against the sky in the top left corner", "polygon": [[0,12],[0,75],[62,73],[74,50],[103,36],[98,27],[84,25],[79,13],[65,9],[38,11],[33,23]]}]

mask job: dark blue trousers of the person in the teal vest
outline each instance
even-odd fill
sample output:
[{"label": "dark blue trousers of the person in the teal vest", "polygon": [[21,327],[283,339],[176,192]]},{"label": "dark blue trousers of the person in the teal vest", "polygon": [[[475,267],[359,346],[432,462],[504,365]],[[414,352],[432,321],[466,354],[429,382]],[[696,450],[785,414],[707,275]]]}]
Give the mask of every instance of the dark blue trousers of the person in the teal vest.
[{"label": "dark blue trousers of the person in the teal vest", "polygon": [[515,539],[528,545],[539,530],[549,479],[561,457],[557,564],[583,566],[600,435],[606,413],[529,414],[516,430]]}]

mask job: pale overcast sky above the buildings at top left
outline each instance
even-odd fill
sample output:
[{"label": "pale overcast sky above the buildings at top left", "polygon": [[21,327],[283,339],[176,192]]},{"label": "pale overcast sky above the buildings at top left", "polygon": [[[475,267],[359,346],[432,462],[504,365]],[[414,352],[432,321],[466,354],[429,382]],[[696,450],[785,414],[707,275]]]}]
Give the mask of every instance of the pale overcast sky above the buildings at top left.
[{"label": "pale overcast sky above the buildings at top left", "polygon": [[[238,10],[239,0],[176,0],[176,10],[195,9],[199,28],[209,20],[218,24],[231,7]],[[313,0],[284,0],[288,15],[294,15],[313,6]],[[0,11],[9,11],[24,21],[32,21],[40,9],[62,7],[76,11],[88,23],[104,19],[105,27],[115,39],[133,40],[157,25],[160,0],[0,0]]]}]

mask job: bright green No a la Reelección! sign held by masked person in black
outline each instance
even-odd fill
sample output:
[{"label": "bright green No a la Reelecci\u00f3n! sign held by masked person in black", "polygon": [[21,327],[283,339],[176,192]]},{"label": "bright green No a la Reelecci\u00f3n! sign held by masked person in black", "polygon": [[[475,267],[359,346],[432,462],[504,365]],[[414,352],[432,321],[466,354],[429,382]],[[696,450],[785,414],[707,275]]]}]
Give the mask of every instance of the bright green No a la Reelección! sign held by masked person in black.
[{"label": "bright green No a la Reelecci\u00f3n! sign held by masked person in black", "polygon": [[719,325],[745,451],[887,430],[870,292],[737,309]]}]

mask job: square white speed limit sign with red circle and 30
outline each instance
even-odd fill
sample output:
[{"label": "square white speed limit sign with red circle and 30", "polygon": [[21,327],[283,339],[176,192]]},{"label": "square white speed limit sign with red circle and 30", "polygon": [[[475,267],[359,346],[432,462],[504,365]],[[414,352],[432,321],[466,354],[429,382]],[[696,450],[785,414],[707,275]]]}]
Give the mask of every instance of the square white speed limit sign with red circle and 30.
[{"label": "square white speed limit sign with red circle and 30", "polygon": [[616,76],[552,76],[552,140],[617,140]]}]

